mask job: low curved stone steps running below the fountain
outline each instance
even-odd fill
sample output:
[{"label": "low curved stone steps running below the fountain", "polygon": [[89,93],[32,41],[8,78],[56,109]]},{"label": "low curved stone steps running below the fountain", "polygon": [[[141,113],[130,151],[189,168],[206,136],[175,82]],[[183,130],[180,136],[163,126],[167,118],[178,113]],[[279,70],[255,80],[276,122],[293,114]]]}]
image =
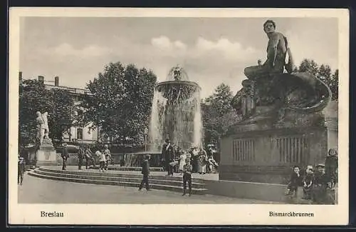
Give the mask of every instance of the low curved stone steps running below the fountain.
[{"label": "low curved stone steps running below the fountain", "polygon": [[[132,174],[116,174],[116,173],[93,173],[93,172],[79,172],[79,171],[62,171],[51,170],[46,168],[38,168],[36,170],[28,172],[30,176],[36,176],[38,178],[47,178],[57,181],[70,181],[75,183],[93,183],[102,185],[114,185],[114,186],[130,186],[138,188],[142,181],[142,175]],[[159,177],[159,178],[156,178]],[[157,190],[165,191],[178,191],[182,192],[182,178],[180,181],[170,179],[162,179],[166,176],[150,176],[150,187]],[[168,176],[167,176],[168,177]],[[205,194],[207,189],[204,183],[192,183],[193,194]]]}]

